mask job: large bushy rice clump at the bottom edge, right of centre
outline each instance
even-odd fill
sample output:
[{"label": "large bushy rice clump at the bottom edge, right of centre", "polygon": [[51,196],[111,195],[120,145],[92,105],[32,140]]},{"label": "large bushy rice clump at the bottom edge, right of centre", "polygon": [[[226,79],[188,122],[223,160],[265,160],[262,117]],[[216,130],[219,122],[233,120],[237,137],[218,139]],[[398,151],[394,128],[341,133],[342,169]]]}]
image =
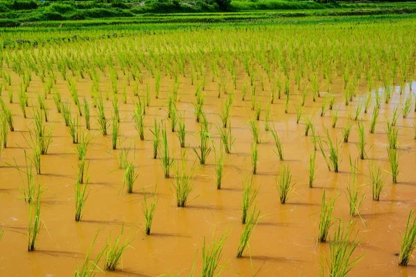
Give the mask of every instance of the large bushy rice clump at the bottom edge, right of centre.
[{"label": "large bushy rice clump at the bottom edge, right of centre", "polygon": [[[353,253],[360,244],[361,240],[357,240],[358,231],[353,235],[355,222],[347,223],[345,229],[341,221],[338,221],[338,226],[333,232],[333,237],[330,237],[331,244],[329,244],[329,260],[326,258],[326,264],[329,271],[329,276],[342,277],[357,265],[363,258],[363,255],[352,259]],[[321,260],[321,275],[324,276],[323,260]]]}]

